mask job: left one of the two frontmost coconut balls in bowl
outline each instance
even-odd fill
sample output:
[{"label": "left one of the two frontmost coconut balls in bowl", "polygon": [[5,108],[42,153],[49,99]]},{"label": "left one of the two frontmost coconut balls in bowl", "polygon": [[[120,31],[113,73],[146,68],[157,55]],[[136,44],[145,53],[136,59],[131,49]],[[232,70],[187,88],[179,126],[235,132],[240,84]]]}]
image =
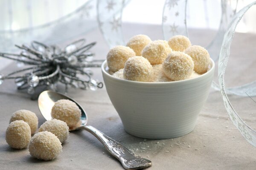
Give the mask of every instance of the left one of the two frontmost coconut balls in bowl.
[{"label": "left one of the two frontmost coconut balls in bowl", "polygon": [[138,82],[151,82],[153,68],[150,62],[141,56],[131,57],[125,62],[123,76],[125,79]]}]

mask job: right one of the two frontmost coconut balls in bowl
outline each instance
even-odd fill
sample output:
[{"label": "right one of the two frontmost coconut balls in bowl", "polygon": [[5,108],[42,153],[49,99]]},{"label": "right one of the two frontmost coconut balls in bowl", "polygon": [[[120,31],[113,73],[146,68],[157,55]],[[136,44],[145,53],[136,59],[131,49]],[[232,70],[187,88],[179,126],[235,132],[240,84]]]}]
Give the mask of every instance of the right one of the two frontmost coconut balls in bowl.
[{"label": "right one of the two frontmost coconut balls in bowl", "polygon": [[173,52],[163,62],[164,74],[174,81],[188,79],[194,68],[192,58],[183,52]]}]

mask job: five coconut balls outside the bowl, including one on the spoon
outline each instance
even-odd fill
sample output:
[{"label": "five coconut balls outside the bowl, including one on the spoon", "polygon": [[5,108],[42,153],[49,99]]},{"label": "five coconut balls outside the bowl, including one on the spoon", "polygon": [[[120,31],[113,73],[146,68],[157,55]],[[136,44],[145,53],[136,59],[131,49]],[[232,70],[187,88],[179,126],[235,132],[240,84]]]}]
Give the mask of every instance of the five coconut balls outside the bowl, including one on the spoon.
[{"label": "five coconut balls outside the bowl, including one on the spoon", "polygon": [[69,128],[73,129],[81,124],[81,110],[75,102],[61,99],[52,107],[51,116],[51,120],[37,129],[38,117],[35,113],[16,111],[6,130],[6,142],[15,149],[29,147],[30,155],[37,159],[55,159],[62,151],[61,144],[67,139]]}]

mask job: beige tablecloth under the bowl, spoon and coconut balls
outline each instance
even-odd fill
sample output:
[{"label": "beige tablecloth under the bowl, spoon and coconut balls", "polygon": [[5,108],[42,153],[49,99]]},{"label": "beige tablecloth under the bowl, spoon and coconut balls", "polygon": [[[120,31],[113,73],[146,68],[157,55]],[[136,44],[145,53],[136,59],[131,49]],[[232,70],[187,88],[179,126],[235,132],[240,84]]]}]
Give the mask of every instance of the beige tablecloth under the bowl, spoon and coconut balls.
[{"label": "beige tablecloth under the bowl, spoon and coconut balls", "polygon": [[[148,34],[152,40],[162,39],[160,26],[125,25],[126,40],[134,34]],[[189,32],[192,43],[206,45],[214,35],[207,31]],[[104,59],[108,46],[99,30],[85,35],[87,42],[97,41],[93,48],[96,58]],[[255,77],[256,36],[236,34],[231,47],[230,62],[226,72],[227,86],[241,85]],[[3,74],[14,70],[15,65],[0,71]],[[217,70],[217,69],[216,69]],[[102,80],[99,68],[94,69],[94,77]],[[217,73],[217,72],[216,72]],[[217,74],[216,74],[217,75]],[[87,111],[88,124],[113,139],[124,144],[136,154],[152,161],[151,170],[255,170],[256,149],[247,143],[231,123],[224,108],[221,94],[211,91],[202,109],[195,130],[175,139],[149,140],[129,135],[111,104],[105,90],[81,91],[71,89],[69,95],[76,99]],[[249,98],[230,96],[235,109],[252,127],[256,128],[254,103]],[[70,133],[63,144],[63,152],[53,161],[40,161],[29,155],[28,149],[15,150],[5,141],[5,130],[10,116],[19,109],[27,109],[37,114],[39,125],[45,120],[41,116],[37,101],[27,94],[17,91],[13,80],[0,85],[0,169],[1,170],[122,170],[122,166],[111,156],[103,145],[86,131]]]}]

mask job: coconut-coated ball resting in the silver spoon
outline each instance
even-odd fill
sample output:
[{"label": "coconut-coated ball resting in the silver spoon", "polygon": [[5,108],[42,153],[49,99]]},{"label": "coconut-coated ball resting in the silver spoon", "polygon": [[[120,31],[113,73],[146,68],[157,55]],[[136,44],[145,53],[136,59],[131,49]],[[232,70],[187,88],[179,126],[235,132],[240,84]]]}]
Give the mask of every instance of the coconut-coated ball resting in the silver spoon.
[{"label": "coconut-coated ball resting in the silver spoon", "polygon": [[61,99],[55,102],[51,114],[52,118],[66,122],[71,129],[77,126],[81,118],[79,107],[75,102],[67,99]]}]

